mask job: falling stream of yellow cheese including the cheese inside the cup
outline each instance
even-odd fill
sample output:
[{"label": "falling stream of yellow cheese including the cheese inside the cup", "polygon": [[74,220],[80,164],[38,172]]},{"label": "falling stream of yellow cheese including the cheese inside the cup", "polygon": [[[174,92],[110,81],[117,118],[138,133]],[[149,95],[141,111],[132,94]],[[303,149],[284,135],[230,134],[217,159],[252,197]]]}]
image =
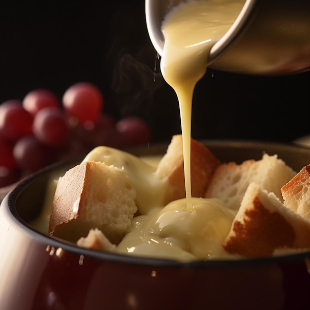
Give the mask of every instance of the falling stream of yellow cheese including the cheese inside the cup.
[{"label": "falling stream of yellow cheese including the cheese inside the cup", "polygon": [[197,82],[205,75],[213,45],[231,27],[245,0],[204,0],[182,3],[162,24],[165,38],[160,69],[179,100],[183,136],[187,208],[191,203],[191,117]]}]

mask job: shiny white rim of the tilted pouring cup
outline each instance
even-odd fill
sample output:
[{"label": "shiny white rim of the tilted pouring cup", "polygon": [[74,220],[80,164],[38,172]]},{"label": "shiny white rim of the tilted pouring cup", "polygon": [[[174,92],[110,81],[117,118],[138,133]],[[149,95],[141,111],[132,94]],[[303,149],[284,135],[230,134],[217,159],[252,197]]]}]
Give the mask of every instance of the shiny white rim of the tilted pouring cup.
[{"label": "shiny white rim of the tilted pouring cup", "polygon": [[[155,47],[155,50],[161,56],[164,45],[164,37],[161,32],[161,18],[164,17],[165,12],[161,11],[162,7],[160,7],[160,5],[154,6],[153,3],[154,0],[145,1],[146,23],[151,42]],[[237,38],[240,31],[245,26],[245,23],[253,14],[256,3],[257,0],[246,0],[240,14],[238,15],[233,25],[230,27],[227,33],[212,47],[209,54],[209,63],[212,63],[214,59]]]}]

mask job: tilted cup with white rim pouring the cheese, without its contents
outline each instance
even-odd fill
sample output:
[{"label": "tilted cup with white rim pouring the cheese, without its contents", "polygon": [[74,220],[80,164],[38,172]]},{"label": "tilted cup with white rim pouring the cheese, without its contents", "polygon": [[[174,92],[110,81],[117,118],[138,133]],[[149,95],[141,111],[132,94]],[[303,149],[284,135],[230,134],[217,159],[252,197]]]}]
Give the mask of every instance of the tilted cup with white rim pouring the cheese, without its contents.
[{"label": "tilted cup with white rim pouring the cheese, without its contents", "polygon": [[[187,1],[145,1],[149,35],[159,55],[164,45],[164,16]],[[310,1],[246,0],[235,23],[212,47],[208,66],[270,76],[310,70]]]}]

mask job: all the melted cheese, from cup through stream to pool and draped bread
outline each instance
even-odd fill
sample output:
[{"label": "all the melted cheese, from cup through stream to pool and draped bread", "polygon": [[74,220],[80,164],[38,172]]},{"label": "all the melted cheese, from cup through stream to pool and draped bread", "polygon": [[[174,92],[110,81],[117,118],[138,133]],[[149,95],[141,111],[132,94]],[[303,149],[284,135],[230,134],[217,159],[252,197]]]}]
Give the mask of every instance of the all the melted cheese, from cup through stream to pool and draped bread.
[{"label": "all the melted cheese, from cup through stream to pool and draped bread", "polygon": [[[205,75],[210,49],[233,24],[245,0],[202,0],[182,3],[162,24],[165,44],[161,72],[179,100],[186,198],[162,205],[162,186],[153,179],[155,167],[139,158],[98,147],[84,161],[102,161],[125,169],[137,191],[139,216],[117,246],[117,252],[181,261],[227,257],[223,241],[235,211],[218,200],[192,198],[191,116],[197,82]],[[137,173],[137,171],[140,171]],[[152,195],[149,195],[150,188]],[[149,189],[149,190],[148,190]]]}]

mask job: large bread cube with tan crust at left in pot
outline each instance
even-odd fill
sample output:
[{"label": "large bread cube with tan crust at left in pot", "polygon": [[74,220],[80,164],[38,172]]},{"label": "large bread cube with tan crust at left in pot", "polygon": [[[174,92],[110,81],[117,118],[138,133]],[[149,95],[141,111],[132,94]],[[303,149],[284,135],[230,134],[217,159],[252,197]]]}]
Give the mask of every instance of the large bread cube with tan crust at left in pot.
[{"label": "large bread cube with tan crust at left in pot", "polygon": [[123,170],[102,162],[83,162],[58,180],[49,233],[76,242],[98,228],[117,244],[137,211],[135,198]]}]

